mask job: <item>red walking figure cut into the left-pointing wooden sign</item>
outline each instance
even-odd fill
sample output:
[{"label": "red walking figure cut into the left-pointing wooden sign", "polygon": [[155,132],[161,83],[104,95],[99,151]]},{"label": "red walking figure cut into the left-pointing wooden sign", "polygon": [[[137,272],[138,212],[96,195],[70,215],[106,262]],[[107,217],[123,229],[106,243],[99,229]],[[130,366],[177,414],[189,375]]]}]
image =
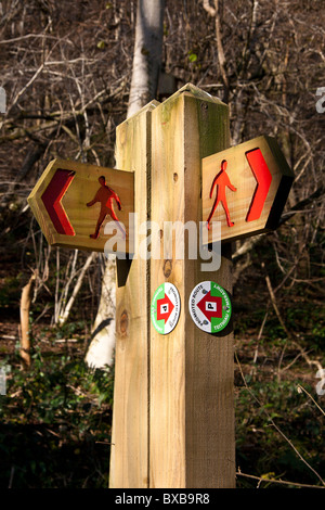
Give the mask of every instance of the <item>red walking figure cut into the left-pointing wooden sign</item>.
[{"label": "red walking figure cut into the left-pointing wooden sign", "polygon": [[94,195],[94,199],[86,204],[87,207],[91,207],[96,202],[101,203],[101,211],[100,211],[100,216],[99,216],[98,225],[96,225],[96,228],[95,228],[95,232],[91,233],[90,238],[92,238],[92,239],[98,239],[99,238],[100,229],[101,229],[101,227],[103,225],[103,221],[106,218],[107,214],[109,214],[109,216],[116,221],[118,228],[120,229],[120,231],[123,234],[123,238],[126,238],[126,231],[122,228],[122,226],[120,225],[120,222],[118,220],[118,217],[116,216],[116,214],[114,212],[114,208],[113,208],[113,201],[115,200],[116,203],[117,203],[118,209],[119,211],[121,209],[120,200],[119,200],[118,195],[115,193],[115,191],[112,188],[109,188],[109,186],[106,184],[106,179],[105,179],[104,176],[101,176],[99,178],[99,182],[101,184],[101,188],[99,189],[99,191]]}]

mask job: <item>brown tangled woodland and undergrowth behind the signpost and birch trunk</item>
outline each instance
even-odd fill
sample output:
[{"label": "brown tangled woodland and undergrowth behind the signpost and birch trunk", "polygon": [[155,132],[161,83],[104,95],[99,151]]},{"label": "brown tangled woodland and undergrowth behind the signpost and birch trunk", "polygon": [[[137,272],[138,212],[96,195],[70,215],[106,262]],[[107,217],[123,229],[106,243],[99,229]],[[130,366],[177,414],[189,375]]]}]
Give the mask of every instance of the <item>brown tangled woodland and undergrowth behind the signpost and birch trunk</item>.
[{"label": "brown tangled woodland and undergrowth behind the signpost and birch trunk", "polygon": [[[26,199],[57,156],[114,166],[135,14],[135,0],[0,2],[2,488],[108,483],[114,367],[84,364],[105,258],[82,271],[89,254],[51,248]],[[324,17],[320,0],[229,0],[217,16],[212,1],[166,0],[156,99],[186,82],[218,95],[232,144],[276,137],[296,175],[280,229],[234,245],[239,488],[325,486]],[[26,370],[20,305],[31,276]]]}]

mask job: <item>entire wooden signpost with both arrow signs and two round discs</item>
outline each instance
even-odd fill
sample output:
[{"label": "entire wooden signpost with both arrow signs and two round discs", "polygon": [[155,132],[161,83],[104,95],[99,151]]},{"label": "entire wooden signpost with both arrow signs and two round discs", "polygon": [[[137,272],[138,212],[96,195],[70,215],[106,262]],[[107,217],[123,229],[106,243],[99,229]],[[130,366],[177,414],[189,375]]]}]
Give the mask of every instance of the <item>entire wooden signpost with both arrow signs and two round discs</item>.
[{"label": "entire wooden signpost with both arrow signs and two round discs", "polygon": [[[118,126],[123,171],[80,170],[78,184],[78,164],[55,162],[29,197],[49,242],[103,250],[89,202],[104,174],[125,212],[158,228],[147,244],[160,256],[117,258],[113,488],[235,487],[230,241],[276,227],[292,174],[272,139],[229,145],[229,107],[186,85]],[[75,173],[76,194],[69,173],[52,184],[58,168]],[[186,256],[190,241],[183,258],[162,250],[166,221],[203,222],[209,243],[221,221],[219,269]]]}]

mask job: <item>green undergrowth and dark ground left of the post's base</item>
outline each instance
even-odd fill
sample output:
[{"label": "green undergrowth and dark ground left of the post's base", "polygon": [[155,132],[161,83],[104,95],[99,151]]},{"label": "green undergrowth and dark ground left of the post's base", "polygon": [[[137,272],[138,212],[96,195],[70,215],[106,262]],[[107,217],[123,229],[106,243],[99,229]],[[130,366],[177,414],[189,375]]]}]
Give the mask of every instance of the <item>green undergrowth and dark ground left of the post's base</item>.
[{"label": "green undergrowth and dark ground left of the post's base", "polygon": [[113,370],[40,349],[28,371],[15,357],[3,365],[10,371],[0,396],[0,487],[106,488]]}]

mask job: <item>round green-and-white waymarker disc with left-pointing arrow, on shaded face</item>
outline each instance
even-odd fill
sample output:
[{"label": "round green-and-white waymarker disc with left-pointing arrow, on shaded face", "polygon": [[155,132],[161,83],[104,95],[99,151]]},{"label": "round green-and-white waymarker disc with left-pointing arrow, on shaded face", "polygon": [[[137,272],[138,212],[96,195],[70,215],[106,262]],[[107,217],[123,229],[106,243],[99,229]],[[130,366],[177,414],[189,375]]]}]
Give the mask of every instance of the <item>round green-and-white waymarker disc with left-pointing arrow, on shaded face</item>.
[{"label": "round green-and-white waymarker disc with left-pointing arrow, on shaded face", "polygon": [[213,281],[203,281],[193,289],[188,308],[193,321],[207,333],[222,331],[232,315],[230,296]]}]

